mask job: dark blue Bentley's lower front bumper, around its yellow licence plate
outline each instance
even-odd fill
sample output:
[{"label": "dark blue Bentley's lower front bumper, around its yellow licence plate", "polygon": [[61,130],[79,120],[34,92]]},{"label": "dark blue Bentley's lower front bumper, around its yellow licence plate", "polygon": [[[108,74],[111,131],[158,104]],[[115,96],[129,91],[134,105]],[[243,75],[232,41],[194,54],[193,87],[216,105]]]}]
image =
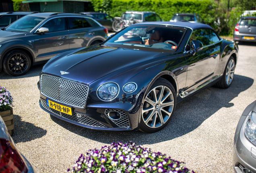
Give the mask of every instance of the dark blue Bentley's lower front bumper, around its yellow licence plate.
[{"label": "dark blue Bentley's lower front bumper, around its yellow licence plate", "polygon": [[[60,103],[64,105],[63,103]],[[124,111],[122,109],[112,108],[88,108],[84,110],[72,108],[72,115],[61,113],[47,106],[46,98],[39,100],[41,109],[50,113],[54,117],[79,125],[88,129],[104,131],[135,131],[139,129],[141,110]],[[82,112],[83,111],[83,112]],[[121,118],[118,120],[110,119],[107,114],[110,111],[120,113]]]}]

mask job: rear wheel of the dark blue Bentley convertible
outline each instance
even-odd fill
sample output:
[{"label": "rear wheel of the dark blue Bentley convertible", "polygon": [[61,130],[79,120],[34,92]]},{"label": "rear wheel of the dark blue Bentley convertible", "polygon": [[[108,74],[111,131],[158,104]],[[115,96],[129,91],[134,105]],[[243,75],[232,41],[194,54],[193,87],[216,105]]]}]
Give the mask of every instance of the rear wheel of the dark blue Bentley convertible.
[{"label": "rear wheel of the dark blue Bentley convertible", "polygon": [[227,89],[233,82],[234,75],[235,59],[233,58],[233,56],[230,56],[229,60],[227,61],[223,76],[221,77],[221,80],[217,84],[215,84],[215,86],[218,88]]}]

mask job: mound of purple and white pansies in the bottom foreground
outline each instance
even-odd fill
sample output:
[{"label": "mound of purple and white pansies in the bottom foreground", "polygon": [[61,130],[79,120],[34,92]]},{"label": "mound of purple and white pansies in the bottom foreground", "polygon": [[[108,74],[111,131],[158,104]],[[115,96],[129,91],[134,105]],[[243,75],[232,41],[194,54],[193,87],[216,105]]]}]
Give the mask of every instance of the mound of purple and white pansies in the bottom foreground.
[{"label": "mound of purple and white pansies in the bottom foreground", "polygon": [[162,153],[154,153],[141,145],[122,142],[111,143],[101,149],[89,150],[68,171],[74,173],[194,173],[183,162],[175,161]]}]

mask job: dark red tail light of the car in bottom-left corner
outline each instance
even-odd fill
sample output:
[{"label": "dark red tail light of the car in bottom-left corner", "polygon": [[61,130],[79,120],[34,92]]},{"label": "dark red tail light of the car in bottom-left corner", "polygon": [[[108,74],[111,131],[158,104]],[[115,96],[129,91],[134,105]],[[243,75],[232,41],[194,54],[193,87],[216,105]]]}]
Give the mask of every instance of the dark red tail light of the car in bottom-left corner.
[{"label": "dark red tail light of the car in bottom-left corner", "polygon": [[0,173],[27,173],[27,167],[12,143],[0,139]]}]

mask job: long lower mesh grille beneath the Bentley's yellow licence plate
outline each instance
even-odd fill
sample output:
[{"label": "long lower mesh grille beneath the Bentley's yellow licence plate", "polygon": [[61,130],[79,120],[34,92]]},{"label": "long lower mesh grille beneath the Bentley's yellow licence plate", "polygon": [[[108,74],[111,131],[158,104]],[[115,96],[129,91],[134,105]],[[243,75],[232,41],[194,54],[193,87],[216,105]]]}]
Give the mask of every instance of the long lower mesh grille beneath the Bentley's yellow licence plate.
[{"label": "long lower mesh grille beneath the Bentley's yellow licence plate", "polygon": [[87,117],[85,115],[81,115],[75,112],[72,112],[73,115],[68,115],[65,113],[61,113],[59,111],[56,111],[55,109],[52,109],[51,107],[47,106],[47,103],[43,100],[41,100],[41,103],[43,105],[44,108],[46,108],[47,110],[51,111],[52,113],[55,113],[57,115],[59,115],[60,117],[72,120],[72,121],[76,121],[78,123],[82,123],[84,125],[89,125],[89,126],[93,126],[93,127],[106,127],[105,125],[99,123],[98,121]]}]

